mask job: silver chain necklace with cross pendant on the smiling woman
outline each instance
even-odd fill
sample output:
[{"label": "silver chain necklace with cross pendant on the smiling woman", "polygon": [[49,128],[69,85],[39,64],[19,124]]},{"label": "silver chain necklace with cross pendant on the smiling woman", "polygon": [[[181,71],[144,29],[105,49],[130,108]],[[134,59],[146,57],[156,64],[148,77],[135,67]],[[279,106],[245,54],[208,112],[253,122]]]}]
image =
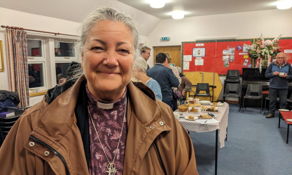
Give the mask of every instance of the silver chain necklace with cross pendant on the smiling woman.
[{"label": "silver chain necklace with cross pendant on the smiling woman", "polygon": [[[91,113],[90,113],[89,107],[87,107],[87,108],[88,108],[88,112],[89,112],[90,119],[91,119],[91,122],[92,122],[92,124],[93,124],[94,130],[95,130],[96,135],[97,135],[97,137],[98,137],[98,141],[99,141],[99,143],[100,143],[100,145],[101,145],[101,147],[102,147],[102,149],[103,149],[104,155],[105,155],[106,158],[107,158],[107,154],[106,154],[106,152],[105,152],[105,150],[104,150],[104,148],[103,148],[103,144],[101,143],[101,141],[100,141],[100,139],[99,139],[98,132],[97,132],[97,130],[96,130],[96,128],[95,128],[95,125],[94,125],[94,123],[93,123],[93,119],[92,119],[92,116],[91,116]],[[124,128],[124,122],[125,122],[126,110],[127,110],[127,96],[126,96],[126,102],[125,102],[125,114],[124,114],[124,119],[123,119],[123,123],[122,123],[122,130],[121,130],[121,134],[120,134],[120,139],[119,139],[119,142],[118,142],[118,146],[116,147],[116,149],[118,149],[118,148],[119,148],[119,145],[120,145],[120,141],[121,141],[121,137],[122,137],[122,133],[123,133],[123,128]],[[116,153],[117,153],[117,151],[116,151]],[[108,160],[108,158],[107,158],[107,162],[108,162],[108,164],[107,164],[107,169],[108,169],[108,170],[106,171],[106,173],[108,173],[109,175],[111,175],[111,174],[116,174],[117,169],[116,169],[116,165],[114,164],[115,158],[116,158],[116,154],[115,154],[114,159],[112,160],[112,162],[110,162],[110,161]]]}]

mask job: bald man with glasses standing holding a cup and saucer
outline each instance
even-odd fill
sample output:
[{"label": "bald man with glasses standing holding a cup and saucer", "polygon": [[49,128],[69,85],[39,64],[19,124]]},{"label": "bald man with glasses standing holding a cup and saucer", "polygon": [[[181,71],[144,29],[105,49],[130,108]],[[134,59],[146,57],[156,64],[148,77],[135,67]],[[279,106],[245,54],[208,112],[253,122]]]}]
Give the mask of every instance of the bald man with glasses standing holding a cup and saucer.
[{"label": "bald man with glasses standing holding a cup and saucer", "polygon": [[269,65],[265,76],[270,78],[270,113],[266,118],[271,118],[274,117],[275,114],[277,94],[279,94],[280,109],[285,109],[287,105],[288,79],[292,79],[292,67],[285,61],[284,53],[279,52],[277,54],[276,61]]}]

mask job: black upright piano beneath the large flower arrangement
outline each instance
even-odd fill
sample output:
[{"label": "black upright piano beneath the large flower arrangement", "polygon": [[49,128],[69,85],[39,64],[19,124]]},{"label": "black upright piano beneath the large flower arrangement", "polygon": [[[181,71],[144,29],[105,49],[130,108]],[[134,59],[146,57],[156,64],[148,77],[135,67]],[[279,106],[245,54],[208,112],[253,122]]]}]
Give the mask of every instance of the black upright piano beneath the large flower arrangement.
[{"label": "black upright piano beneath the large flower arrangement", "polygon": [[[263,91],[269,90],[270,79],[265,77],[266,70],[267,68],[262,68],[262,73],[260,73],[258,68],[242,68],[241,100],[243,100],[243,96],[245,95],[249,84],[261,84]],[[292,91],[292,80],[289,80],[288,88],[288,98],[290,98]],[[264,105],[265,101],[263,101],[262,104]],[[251,103],[251,105],[256,105],[256,103]]]}]

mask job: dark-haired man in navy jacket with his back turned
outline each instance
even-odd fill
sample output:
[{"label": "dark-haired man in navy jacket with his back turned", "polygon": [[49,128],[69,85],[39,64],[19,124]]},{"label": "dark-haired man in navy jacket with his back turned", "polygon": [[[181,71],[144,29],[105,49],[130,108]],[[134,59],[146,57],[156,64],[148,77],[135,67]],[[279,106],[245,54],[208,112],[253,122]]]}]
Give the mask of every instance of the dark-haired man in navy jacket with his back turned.
[{"label": "dark-haired man in navy jacket with his back turned", "polygon": [[147,70],[147,76],[155,79],[161,87],[162,101],[173,110],[172,88],[178,87],[180,82],[170,68],[163,65],[166,60],[165,53],[159,52],[155,57],[155,65]]}]

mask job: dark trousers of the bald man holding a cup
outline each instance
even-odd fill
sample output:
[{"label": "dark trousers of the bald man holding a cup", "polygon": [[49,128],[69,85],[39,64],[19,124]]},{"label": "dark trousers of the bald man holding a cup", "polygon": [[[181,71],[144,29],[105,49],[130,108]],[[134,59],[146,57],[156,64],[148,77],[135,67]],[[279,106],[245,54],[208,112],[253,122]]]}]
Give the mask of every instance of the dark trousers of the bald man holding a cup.
[{"label": "dark trousers of the bald man holding a cup", "polygon": [[276,110],[276,101],[277,95],[279,94],[280,99],[280,109],[286,109],[287,106],[287,95],[288,95],[288,88],[269,88],[269,97],[270,97],[270,114],[274,115]]}]

